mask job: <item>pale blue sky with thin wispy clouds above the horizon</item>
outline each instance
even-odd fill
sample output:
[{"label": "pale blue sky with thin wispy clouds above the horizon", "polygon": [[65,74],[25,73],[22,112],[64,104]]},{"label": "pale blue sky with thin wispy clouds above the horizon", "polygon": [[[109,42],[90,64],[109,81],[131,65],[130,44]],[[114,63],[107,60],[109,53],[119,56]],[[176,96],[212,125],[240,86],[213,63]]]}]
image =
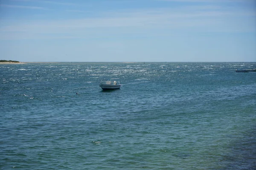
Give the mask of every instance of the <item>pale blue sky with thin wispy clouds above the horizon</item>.
[{"label": "pale blue sky with thin wispy clouds above the horizon", "polygon": [[0,59],[256,62],[256,0],[0,0]]}]

